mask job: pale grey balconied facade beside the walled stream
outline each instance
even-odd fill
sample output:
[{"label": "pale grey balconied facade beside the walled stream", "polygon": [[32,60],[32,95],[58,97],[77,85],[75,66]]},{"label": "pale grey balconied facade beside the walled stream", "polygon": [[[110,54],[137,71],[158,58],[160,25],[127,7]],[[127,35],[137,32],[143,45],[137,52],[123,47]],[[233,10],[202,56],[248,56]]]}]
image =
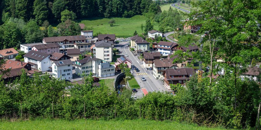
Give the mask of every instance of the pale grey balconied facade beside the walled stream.
[{"label": "pale grey balconied facade beside the walled stream", "polygon": [[110,65],[109,62],[99,63],[98,76],[99,77],[110,77],[115,75],[115,67]]}]

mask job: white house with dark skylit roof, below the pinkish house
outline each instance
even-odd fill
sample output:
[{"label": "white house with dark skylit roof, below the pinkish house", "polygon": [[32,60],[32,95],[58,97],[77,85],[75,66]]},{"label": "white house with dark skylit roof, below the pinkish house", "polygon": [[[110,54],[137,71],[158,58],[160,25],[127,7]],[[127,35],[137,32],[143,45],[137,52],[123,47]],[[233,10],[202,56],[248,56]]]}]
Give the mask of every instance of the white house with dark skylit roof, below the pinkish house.
[{"label": "white house with dark skylit roof, below the pinkish house", "polygon": [[33,70],[47,71],[51,66],[48,53],[31,50],[23,57],[24,62],[31,64]]}]

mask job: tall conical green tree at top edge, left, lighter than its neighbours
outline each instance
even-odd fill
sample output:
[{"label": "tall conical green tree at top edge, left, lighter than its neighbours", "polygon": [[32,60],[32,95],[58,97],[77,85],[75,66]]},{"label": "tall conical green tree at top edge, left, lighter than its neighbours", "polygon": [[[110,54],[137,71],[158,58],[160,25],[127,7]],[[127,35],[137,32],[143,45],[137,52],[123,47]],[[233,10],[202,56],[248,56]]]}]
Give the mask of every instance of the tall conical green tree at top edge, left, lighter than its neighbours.
[{"label": "tall conical green tree at top edge, left, lighter than its neighbours", "polygon": [[46,20],[48,16],[46,0],[35,0],[33,15],[35,15],[35,21],[38,25],[43,24],[43,21]]}]

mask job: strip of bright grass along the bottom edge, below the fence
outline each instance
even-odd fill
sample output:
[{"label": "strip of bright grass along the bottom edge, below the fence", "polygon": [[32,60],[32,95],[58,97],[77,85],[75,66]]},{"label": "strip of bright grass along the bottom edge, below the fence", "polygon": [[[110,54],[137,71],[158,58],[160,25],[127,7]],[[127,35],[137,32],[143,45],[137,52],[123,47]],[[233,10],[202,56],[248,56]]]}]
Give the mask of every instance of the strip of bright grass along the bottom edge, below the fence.
[{"label": "strip of bright grass along the bottom edge, below the fence", "polygon": [[198,127],[171,121],[154,120],[64,120],[64,119],[36,119],[25,121],[2,121],[0,129],[198,129],[220,130],[221,128]]}]

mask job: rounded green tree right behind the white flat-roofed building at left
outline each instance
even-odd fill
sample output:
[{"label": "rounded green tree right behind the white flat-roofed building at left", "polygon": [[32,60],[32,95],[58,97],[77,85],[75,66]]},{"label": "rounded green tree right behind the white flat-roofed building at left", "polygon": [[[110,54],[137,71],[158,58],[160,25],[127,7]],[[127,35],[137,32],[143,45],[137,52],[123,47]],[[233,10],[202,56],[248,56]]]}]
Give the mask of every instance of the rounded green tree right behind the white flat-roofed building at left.
[{"label": "rounded green tree right behind the white flat-roofed building at left", "polygon": [[22,32],[27,43],[40,42],[42,40],[40,27],[33,19],[26,24]]}]

